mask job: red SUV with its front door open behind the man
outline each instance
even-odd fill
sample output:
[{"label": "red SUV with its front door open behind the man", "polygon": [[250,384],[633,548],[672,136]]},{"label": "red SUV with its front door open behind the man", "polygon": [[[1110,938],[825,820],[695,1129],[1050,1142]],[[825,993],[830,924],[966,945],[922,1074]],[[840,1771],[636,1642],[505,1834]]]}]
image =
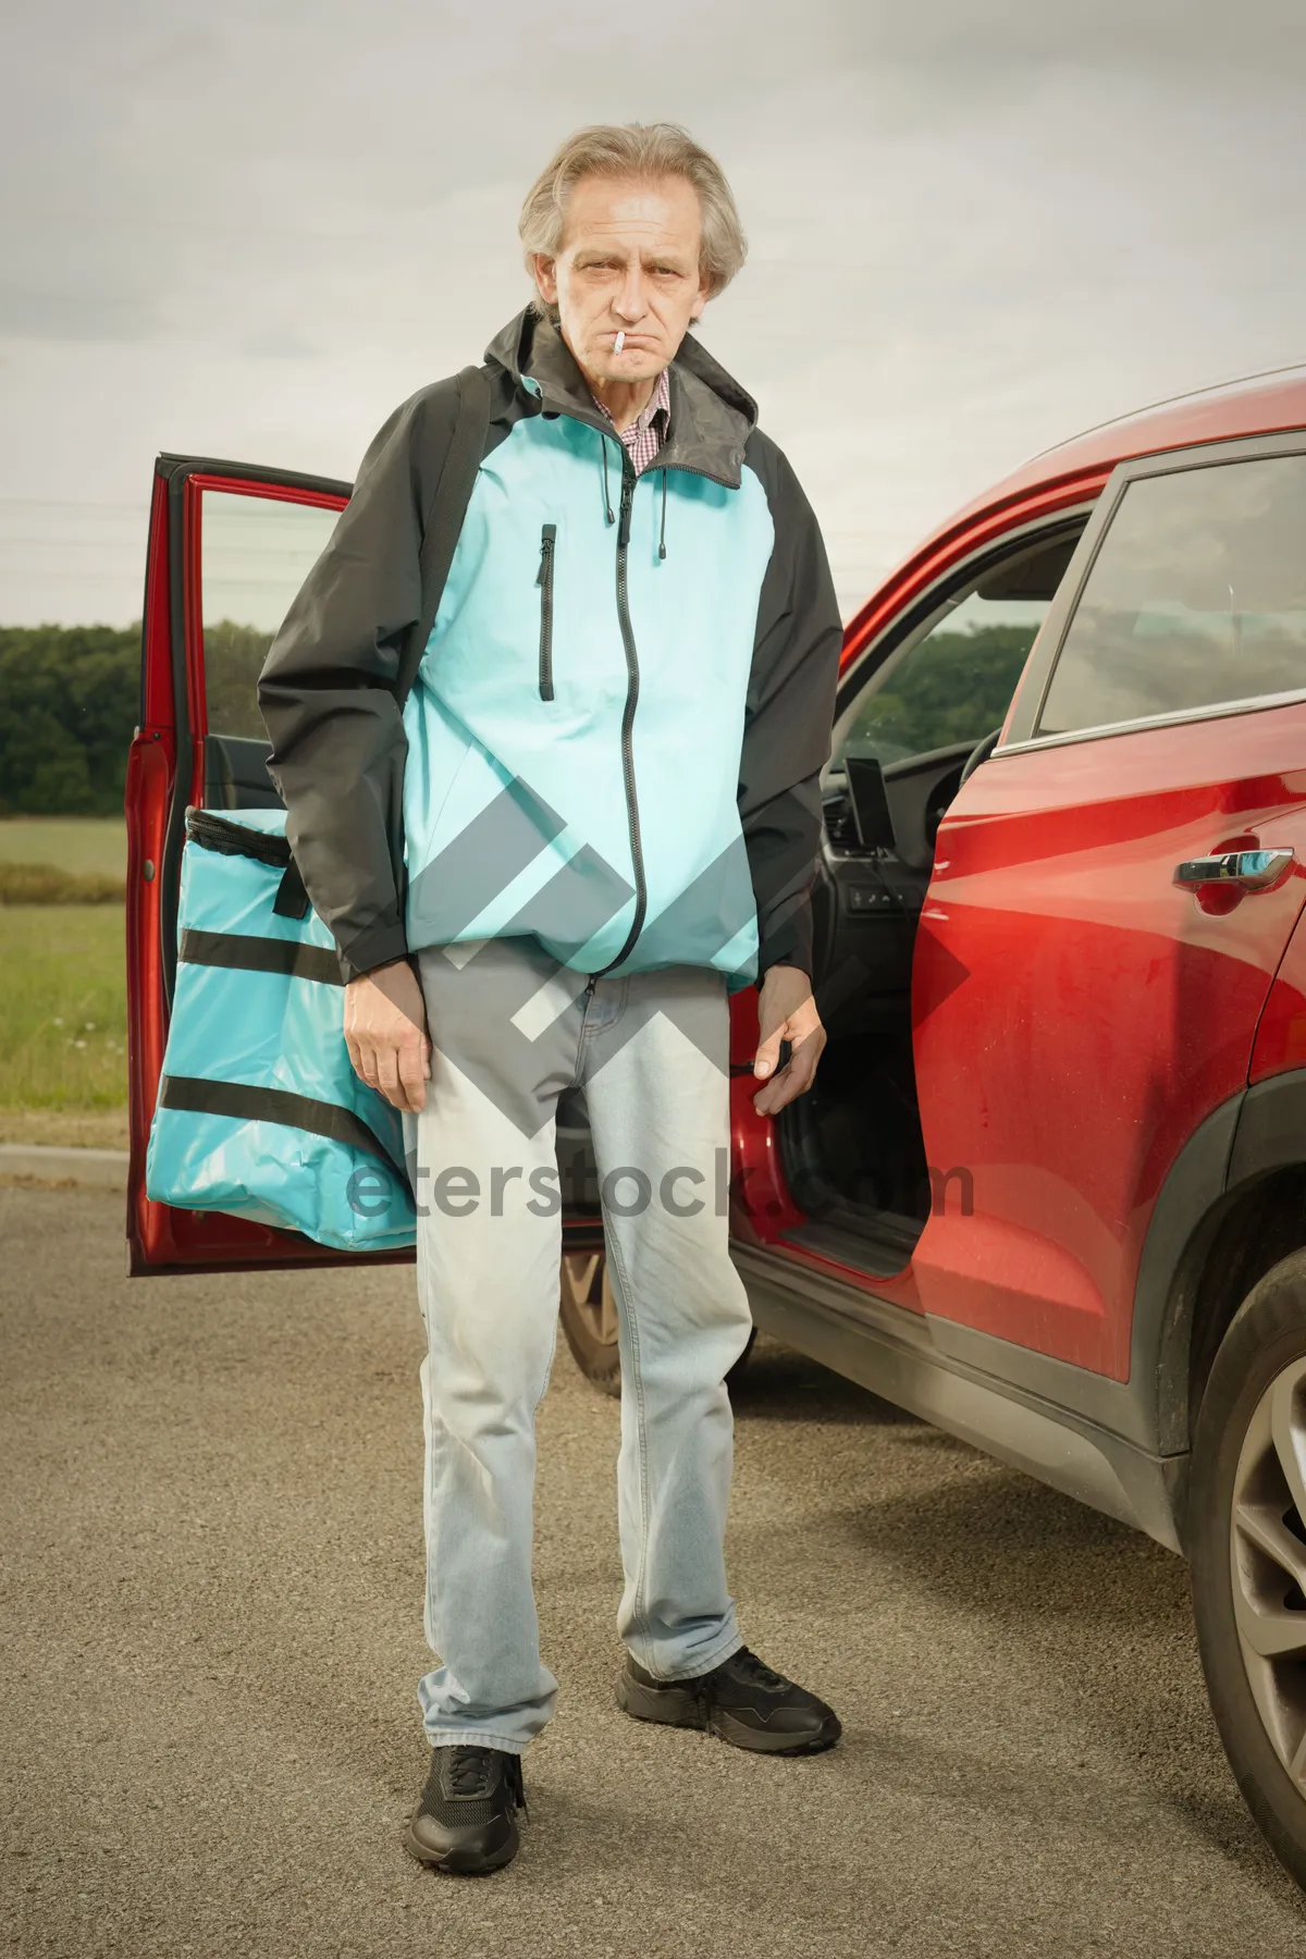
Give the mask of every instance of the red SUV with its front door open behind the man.
[{"label": "red SUV with its front door open behind the man", "polygon": [[[255,676],[347,494],[157,464],[133,1271],[358,1256],[143,1187],[184,807],[276,801]],[[830,1046],[777,1121],[734,999],[756,1322],[1189,1557],[1224,1745],[1306,1883],[1306,374],[1096,429],[928,539],[848,629],[824,815]],[[564,1324],[611,1385],[601,1242],[568,1217]]]}]

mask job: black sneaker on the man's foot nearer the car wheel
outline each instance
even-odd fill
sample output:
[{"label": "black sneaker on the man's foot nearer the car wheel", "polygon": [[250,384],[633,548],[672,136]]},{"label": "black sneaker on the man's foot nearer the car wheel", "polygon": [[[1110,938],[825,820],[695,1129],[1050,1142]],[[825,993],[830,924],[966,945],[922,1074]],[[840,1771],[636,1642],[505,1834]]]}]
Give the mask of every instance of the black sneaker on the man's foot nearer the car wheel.
[{"label": "black sneaker on the man's foot nearer the car wheel", "polygon": [[762,1755],[816,1755],[834,1747],[844,1732],[824,1700],[795,1687],[783,1673],[771,1673],[746,1646],[693,1681],[654,1681],[627,1655],[627,1669],[617,1681],[617,1706],[636,1720],[705,1728],[732,1747],[752,1747]]}]

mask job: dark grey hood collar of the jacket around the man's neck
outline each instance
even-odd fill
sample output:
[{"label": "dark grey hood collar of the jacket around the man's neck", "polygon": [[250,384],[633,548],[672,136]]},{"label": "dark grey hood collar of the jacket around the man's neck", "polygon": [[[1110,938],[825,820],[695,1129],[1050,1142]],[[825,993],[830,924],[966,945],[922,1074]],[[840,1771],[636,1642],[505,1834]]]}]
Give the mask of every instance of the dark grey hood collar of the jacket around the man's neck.
[{"label": "dark grey hood collar of the jacket around the man's neck", "polygon": [[[572,349],[550,319],[527,306],[493,337],[486,360],[505,368],[513,386],[535,396],[540,413],[570,415],[603,435],[611,423],[595,407]],[[672,360],[672,419],[654,468],[693,470],[726,490],[738,490],[744,443],[758,421],[758,404],[707,349],[687,333]]]}]

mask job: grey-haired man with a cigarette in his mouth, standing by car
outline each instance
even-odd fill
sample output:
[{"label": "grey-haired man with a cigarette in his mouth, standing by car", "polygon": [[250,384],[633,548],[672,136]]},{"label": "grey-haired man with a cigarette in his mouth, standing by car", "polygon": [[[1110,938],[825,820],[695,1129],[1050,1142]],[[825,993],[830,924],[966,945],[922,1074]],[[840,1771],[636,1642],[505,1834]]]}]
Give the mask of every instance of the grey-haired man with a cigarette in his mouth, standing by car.
[{"label": "grey-haired man with a cigarette in his mouth, standing by car", "polygon": [[407,1845],[444,1871],[515,1855],[556,1695],[531,1503],[562,1093],[587,1107],[621,1320],[619,1704],[771,1753],[840,1734],[748,1651],[726,1591],[724,1375],[750,1314],[713,1201],[728,995],[760,987],[764,1115],[824,1044],[809,887],[838,609],[789,464],[687,333],[744,261],[713,159],[666,123],[583,129],[521,237],[536,298],[486,355],[490,429],[411,693],[397,648],[454,382],[374,441],[260,680],[350,1056],[413,1160],[441,1663]]}]

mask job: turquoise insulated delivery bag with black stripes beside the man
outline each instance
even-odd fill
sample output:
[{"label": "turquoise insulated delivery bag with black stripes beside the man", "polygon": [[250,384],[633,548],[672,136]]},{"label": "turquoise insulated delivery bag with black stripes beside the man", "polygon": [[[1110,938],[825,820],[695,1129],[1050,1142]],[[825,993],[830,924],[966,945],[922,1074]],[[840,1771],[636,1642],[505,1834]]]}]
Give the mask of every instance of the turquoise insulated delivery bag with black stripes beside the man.
[{"label": "turquoise insulated delivery bag with black stripes beside the man", "polygon": [[145,1191],[339,1252],[413,1244],[403,1123],[350,1066],[335,940],[309,909],[284,809],[186,811]]}]

